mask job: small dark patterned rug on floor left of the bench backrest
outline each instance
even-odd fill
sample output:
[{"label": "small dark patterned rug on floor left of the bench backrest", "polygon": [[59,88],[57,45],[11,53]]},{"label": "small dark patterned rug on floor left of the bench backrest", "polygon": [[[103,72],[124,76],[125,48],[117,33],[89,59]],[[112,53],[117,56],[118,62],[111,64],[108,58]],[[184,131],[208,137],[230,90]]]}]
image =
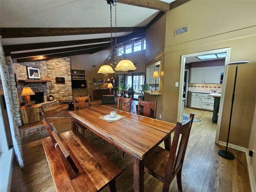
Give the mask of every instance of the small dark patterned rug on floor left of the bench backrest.
[{"label": "small dark patterned rug on floor left of the bench backrest", "polygon": [[[58,134],[58,131],[54,127],[54,125],[51,123],[53,130]],[[33,141],[40,140],[42,138],[48,137],[49,134],[45,128],[44,125],[28,128],[22,130],[22,133],[20,135],[20,140],[22,144],[30,143]]]}]

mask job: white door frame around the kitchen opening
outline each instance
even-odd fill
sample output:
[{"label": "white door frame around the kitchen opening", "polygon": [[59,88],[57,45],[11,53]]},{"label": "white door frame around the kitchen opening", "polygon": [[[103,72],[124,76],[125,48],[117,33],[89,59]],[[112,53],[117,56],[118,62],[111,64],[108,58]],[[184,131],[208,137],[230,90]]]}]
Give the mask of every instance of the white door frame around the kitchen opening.
[{"label": "white door frame around the kitchen opening", "polygon": [[[205,51],[205,52],[198,52],[198,53],[186,54],[186,55],[181,56],[180,85],[183,85],[184,84],[184,78],[185,78],[186,58],[226,52],[225,68],[224,68],[224,79],[223,79],[223,82],[222,82],[222,94],[221,94],[221,97],[220,97],[220,108],[219,108],[219,113],[218,113],[219,115],[218,115],[217,130],[216,130],[216,136],[215,136],[215,142],[216,143],[218,143],[219,135],[220,135],[220,124],[221,124],[221,120],[222,120],[222,111],[223,111],[224,96],[225,96],[225,90],[226,90],[226,80],[227,80],[227,74],[228,74],[228,72],[227,72],[228,70],[226,68],[226,65],[228,64],[228,62],[230,60],[230,51],[231,51],[231,48],[222,48],[222,49],[217,49],[217,50],[209,50],[209,51]],[[183,86],[180,86],[179,100],[178,100],[178,116],[177,116],[177,120],[180,121],[180,122],[182,122],[182,118],[183,118],[183,111],[182,111],[182,108],[184,107],[183,103],[182,103],[183,93],[184,93],[184,88],[183,88]]]}]

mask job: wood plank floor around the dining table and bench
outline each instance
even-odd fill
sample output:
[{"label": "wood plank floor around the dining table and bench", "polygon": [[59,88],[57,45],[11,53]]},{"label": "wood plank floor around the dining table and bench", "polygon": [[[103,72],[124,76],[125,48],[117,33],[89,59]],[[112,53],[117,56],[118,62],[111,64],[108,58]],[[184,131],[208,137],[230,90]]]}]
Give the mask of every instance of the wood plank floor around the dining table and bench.
[{"label": "wood plank floor around the dining table and bench", "polygon": [[[133,101],[132,112],[136,113],[138,101]],[[66,104],[67,105],[67,104]],[[108,105],[116,108],[116,104]],[[52,108],[54,110],[54,108]],[[188,148],[182,169],[182,187],[184,192],[250,192],[248,168],[244,152],[231,150],[235,160],[226,160],[218,155],[219,149],[225,149],[214,143],[216,123],[212,123],[212,112],[185,108],[184,112],[195,113],[200,122],[193,122]],[[71,128],[71,118],[49,118],[58,132],[65,132]],[[42,124],[35,122],[20,127],[20,130]],[[101,152],[116,164],[123,173],[116,180],[118,192],[133,191],[132,158],[125,154],[121,158],[121,150],[115,153],[115,147],[105,142],[90,131],[85,131],[85,137]],[[23,172],[14,161],[11,191],[22,192],[51,192],[56,191],[41,140],[22,145],[25,169]],[[106,188],[102,190],[106,192]],[[144,191],[160,192],[162,183],[144,174]],[[177,192],[176,178],[170,184],[170,191]]]}]

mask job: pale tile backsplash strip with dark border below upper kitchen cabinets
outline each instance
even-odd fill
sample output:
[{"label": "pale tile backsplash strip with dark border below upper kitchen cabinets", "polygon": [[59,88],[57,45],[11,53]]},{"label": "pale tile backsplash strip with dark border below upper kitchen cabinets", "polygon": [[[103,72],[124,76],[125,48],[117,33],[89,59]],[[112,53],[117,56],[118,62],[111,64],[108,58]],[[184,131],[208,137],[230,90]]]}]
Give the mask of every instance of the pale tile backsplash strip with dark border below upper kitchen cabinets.
[{"label": "pale tile backsplash strip with dark border below upper kitchen cabinets", "polygon": [[212,90],[216,90],[217,93],[221,93],[222,84],[188,84],[188,91],[212,92]]}]

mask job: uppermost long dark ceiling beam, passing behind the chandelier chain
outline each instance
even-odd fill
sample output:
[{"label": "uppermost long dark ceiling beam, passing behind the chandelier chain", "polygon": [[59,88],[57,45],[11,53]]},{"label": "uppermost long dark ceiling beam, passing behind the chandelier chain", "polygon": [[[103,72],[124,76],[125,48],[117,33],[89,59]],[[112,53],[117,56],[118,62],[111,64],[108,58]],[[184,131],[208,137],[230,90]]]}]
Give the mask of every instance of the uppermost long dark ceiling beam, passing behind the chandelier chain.
[{"label": "uppermost long dark ceiling beam, passing behind the chandelier chain", "polygon": [[[2,38],[47,37],[111,33],[111,27],[92,28],[0,28]],[[145,27],[117,27],[116,32],[144,31]]]}]

